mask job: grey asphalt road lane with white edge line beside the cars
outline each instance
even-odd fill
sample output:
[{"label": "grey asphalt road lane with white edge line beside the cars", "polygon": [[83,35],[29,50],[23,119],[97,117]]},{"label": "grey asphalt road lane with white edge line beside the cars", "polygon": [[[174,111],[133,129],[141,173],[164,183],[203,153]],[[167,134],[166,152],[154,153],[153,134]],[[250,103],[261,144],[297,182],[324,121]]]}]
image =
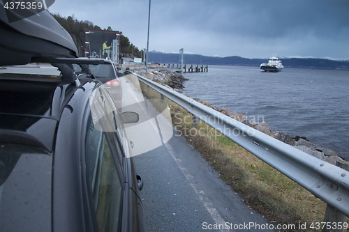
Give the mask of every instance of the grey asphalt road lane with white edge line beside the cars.
[{"label": "grey asphalt road lane with white edge line beside the cars", "polygon": [[137,84],[121,79],[121,85],[123,111],[132,108],[140,114],[140,123],[126,132],[144,181],[141,198],[149,231],[271,231],[256,229],[269,222],[174,131],[168,108],[160,114]]}]

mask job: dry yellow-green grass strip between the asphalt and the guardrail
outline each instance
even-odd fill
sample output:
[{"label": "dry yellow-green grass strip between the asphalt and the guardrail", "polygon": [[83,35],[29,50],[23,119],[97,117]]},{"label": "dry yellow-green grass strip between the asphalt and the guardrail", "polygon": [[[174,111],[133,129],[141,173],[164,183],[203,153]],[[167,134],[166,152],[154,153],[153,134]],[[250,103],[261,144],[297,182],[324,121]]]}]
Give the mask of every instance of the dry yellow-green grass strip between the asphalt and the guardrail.
[{"label": "dry yellow-green grass strip between the asphalt and the guardrail", "polygon": [[[160,94],[151,88],[143,84],[141,87],[147,98],[160,98]],[[193,144],[225,183],[241,194],[248,206],[276,224],[306,222],[310,225],[323,221],[326,203],[206,123],[200,121],[193,127],[188,111],[167,98],[165,100],[171,109],[172,124],[179,134]],[[207,102],[202,104],[211,107]]]}]

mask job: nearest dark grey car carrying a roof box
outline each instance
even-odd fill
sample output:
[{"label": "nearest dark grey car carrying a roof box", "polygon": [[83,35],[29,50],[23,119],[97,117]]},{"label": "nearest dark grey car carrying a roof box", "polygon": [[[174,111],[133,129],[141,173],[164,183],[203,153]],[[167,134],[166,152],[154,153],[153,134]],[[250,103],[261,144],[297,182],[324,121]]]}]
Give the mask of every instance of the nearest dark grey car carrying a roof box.
[{"label": "nearest dark grey car carrying a roof box", "polygon": [[0,65],[45,62],[61,74],[1,70],[0,231],[144,231],[124,130],[138,115],[120,113],[89,73],[75,75],[72,63],[84,64],[47,11],[10,24],[1,10]]}]

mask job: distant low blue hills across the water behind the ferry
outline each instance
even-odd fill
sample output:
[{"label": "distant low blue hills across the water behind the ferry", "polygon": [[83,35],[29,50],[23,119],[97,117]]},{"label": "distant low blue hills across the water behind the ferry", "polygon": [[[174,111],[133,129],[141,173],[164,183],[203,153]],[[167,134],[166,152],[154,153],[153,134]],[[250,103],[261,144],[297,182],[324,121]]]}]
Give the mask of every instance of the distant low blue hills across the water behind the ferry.
[{"label": "distant low blue hills across the water behind the ferry", "polygon": [[[179,54],[149,52],[149,62],[154,63],[180,63]],[[349,70],[349,61],[334,61],[329,59],[314,58],[283,58],[281,59],[285,68],[313,68],[329,70]],[[267,59],[247,59],[240,56],[215,57],[202,56],[198,54],[184,54],[184,63],[193,65],[238,65],[238,66],[260,66]]]}]

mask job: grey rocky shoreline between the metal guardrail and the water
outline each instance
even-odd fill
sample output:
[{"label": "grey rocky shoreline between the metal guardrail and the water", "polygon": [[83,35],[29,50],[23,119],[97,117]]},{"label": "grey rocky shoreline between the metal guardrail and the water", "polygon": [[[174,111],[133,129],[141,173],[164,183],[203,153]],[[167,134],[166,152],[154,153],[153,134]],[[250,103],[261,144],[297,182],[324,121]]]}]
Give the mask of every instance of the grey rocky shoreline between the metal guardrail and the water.
[{"label": "grey rocky shoreline between the metal guardrail and the water", "polygon": [[[138,73],[138,75],[141,75],[143,77],[145,76],[144,69],[133,70],[133,72]],[[183,83],[188,79],[184,78],[182,75],[179,75],[177,72],[174,72],[168,68],[154,68],[149,70],[147,78],[151,79],[154,82],[158,82],[160,84],[168,86],[169,88],[172,88],[174,91],[177,91],[188,96],[189,98],[192,98],[190,95],[187,95],[186,93],[180,91],[182,88],[184,88]],[[197,100],[198,102],[200,101],[198,98],[193,99]],[[235,120],[242,122],[248,126],[251,126],[256,130],[259,130],[260,132],[268,134],[274,137],[275,139],[282,141],[285,144],[289,144],[290,146],[302,150],[305,153],[308,153],[309,155],[317,157],[320,160],[324,160],[325,162],[329,162],[331,164],[339,166],[343,169],[349,170],[349,162],[344,160],[342,157],[339,157],[339,155],[337,155],[333,150],[330,150],[329,148],[323,148],[321,146],[316,146],[315,144],[312,144],[308,139],[306,139],[306,137],[292,137],[290,134],[284,132],[273,131],[264,121],[248,121],[248,117],[244,114],[236,113],[227,108],[220,109],[218,107],[212,107],[207,102],[202,103],[211,107],[212,109],[215,109],[216,111],[221,112],[222,114],[225,114],[226,116],[234,118]]]}]

